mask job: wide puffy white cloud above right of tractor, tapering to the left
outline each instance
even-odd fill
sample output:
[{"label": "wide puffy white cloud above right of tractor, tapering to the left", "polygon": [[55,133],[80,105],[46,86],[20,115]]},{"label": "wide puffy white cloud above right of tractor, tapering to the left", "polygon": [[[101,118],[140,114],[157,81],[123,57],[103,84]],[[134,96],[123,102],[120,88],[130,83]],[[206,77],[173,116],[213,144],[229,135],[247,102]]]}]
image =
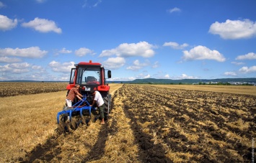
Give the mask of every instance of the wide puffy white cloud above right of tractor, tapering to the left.
[{"label": "wide puffy white cloud above right of tractor, tapering to the left", "polygon": [[153,57],[154,56],[153,45],[148,42],[138,42],[138,43],[123,43],[112,50],[103,50],[100,57],[107,57],[111,55],[116,55],[118,57]]}]

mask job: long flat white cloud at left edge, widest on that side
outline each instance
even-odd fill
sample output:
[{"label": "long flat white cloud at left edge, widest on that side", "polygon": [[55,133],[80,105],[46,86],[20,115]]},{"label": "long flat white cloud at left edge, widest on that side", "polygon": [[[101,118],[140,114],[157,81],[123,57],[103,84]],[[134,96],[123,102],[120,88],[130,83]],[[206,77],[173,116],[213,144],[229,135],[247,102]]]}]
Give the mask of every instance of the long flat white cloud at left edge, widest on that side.
[{"label": "long flat white cloud at left edge, widest on that side", "polygon": [[17,57],[30,57],[41,58],[47,54],[47,51],[40,50],[39,47],[28,47],[24,49],[4,48],[0,49],[0,56],[17,56]]}]

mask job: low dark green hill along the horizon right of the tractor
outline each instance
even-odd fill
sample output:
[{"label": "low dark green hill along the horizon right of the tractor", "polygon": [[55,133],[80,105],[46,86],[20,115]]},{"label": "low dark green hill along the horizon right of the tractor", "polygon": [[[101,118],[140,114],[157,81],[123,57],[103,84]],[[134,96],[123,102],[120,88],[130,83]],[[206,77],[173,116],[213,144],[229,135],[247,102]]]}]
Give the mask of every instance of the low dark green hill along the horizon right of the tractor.
[{"label": "low dark green hill along the horizon right of the tractor", "polygon": [[146,78],[146,79],[136,79],[132,81],[121,81],[121,82],[113,81],[112,83],[136,83],[136,84],[255,83],[256,84],[256,78],[182,79],[182,80]]}]

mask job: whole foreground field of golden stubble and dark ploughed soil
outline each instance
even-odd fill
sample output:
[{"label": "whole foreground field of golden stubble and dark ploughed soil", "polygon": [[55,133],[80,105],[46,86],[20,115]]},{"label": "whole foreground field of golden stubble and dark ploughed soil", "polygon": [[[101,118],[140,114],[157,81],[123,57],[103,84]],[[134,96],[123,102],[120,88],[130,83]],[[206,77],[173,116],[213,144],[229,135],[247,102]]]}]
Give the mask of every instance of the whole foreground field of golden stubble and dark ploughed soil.
[{"label": "whole foreground field of golden stubble and dark ploughed soil", "polygon": [[[56,113],[64,91],[27,96],[33,106],[19,110],[30,115],[15,111],[30,119],[30,129],[26,121],[13,120],[12,111],[1,113],[5,132],[17,127],[23,130],[13,129],[12,134],[24,136],[7,139],[1,129],[1,162],[252,162],[255,87],[237,87],[236,93],[236,87],[206,91],[182,85],[110,86],[112,113],[105,125],[96,121],[58,135]],[[0,98],[1,105],[10,98]]]}]

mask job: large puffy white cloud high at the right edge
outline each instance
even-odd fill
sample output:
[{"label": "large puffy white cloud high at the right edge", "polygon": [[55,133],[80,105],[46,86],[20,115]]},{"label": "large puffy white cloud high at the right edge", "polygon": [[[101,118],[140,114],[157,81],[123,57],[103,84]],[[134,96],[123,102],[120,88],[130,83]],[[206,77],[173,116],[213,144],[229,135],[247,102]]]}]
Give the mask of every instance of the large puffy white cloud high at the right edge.
[{"label": "large puffy white cloud high at the right edge", "polygon": [[229,20],[211,24],[209,32],[219,34],[223,39],[244,39],[254,37],[256,35],[256,22],[249,19]]}]

